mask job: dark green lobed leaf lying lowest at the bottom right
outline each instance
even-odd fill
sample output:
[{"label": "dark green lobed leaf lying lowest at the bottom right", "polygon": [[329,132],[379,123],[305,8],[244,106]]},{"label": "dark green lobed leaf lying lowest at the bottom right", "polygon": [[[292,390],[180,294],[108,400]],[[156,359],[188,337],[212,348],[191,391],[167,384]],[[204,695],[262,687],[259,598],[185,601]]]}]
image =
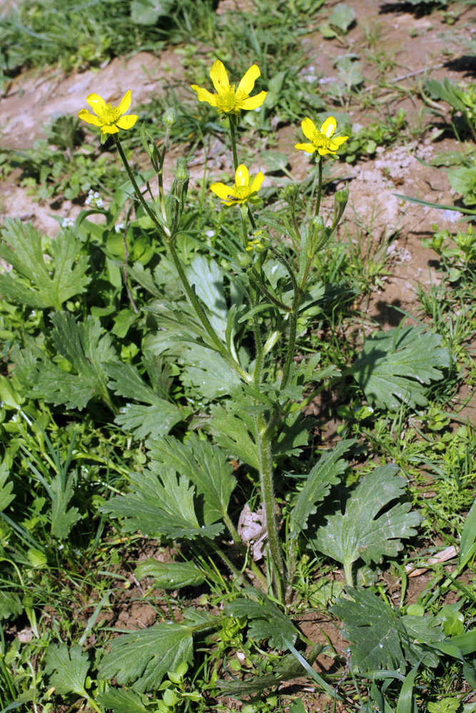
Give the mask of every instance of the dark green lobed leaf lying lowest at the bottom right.
[{"label": "dark green lobed leaf lying lowest at the bottom right", "polygon": [[[342,635],[352,642],[353,661],[363,672],[381,669],[400,670],[415,665],[437,665],[432,652],[425,653],[428,641],[441,641],[445,635],[435,617],[400,617],[386,602],[367,590],[348,590],[352,600],[340,599],[330,608],[344,624]],[[409,619],[418,620],[408,622]],[[413,633],[417,636],[413,637]],[[420,645],[423,645],[423,647]]]}]

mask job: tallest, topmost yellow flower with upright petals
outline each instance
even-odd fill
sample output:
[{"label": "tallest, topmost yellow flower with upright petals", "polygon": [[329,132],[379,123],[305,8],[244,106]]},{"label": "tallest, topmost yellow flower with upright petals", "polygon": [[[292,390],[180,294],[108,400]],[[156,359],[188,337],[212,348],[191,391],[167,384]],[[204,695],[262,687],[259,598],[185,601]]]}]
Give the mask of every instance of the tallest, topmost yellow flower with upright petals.
[{"label": "tallest, topmost yellow flower with upright petals", "polygon": [[238,84],[238,89],[235,90],[234,84],[230,86],[223,62],[217,59],[210,71],[216,94],[212,94],[208,89],[202,89],[196,84],[192,84],[191,87],[193,91],[196,91],[198,101],[208,101],[211,106],[216,106],[219,113],[239,114],[242,109],[257,109],[265,101],[268,92],[262,91],[255,96],[250,96],[260,74],[258,66],[253,64]]}]

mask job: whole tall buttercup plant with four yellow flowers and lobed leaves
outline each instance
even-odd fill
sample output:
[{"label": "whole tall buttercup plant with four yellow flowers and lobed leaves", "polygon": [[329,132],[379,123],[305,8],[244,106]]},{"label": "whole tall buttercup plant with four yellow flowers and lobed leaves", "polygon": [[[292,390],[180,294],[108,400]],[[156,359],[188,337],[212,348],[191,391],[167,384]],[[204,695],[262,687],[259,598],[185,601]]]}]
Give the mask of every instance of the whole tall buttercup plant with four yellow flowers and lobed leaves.
[{"label": "whole tall buttercup plant with four yellow flowers and lobed leaves", "polygon": [[[298,215],[296,202],[300,188],[291,183],[282,194],[289,207],[290,220],[286,217],[278,222],[272,217],[262,216],[262,201],[258,191],[265,177],[259,171],[253,179],[250,178],[248,168],[238,162],[236,141],[240,112],[261,106],[265,101],[265,91],[249,96],[259,76],[259,68],[253,65],[235,89],[228,81],[223,64],[216,61],[211,70],[216,94],[195,85],[192,87],[198,101],[207,101],[216,106],[229,123],[235,183],[228,186],[217,182],[210,186],[211,192],[221,199],[222,210],[236,210],[238,206],[240,211],[243,233],[241,246],[237,248],[237,243],[228,240],[226,234],[223,235],[223,245],[228,246],[226,269],[202,255],[196,255],[187,265],[178,250],[177,237],[181,232],[182,216],[186,212],[188,190],[186,160],[178,160],[175,179],[168,195],[163,188],[164,158],[171,128],[176,120],[175,112],[168,110],[163,116],[165,139],[160,149],[148,135],[146,126],[141,128],[143,148],[158,177],[157,196],[153,195],[150,182],[146,183],[146,190],[139,188],[121,146],[119,129],[132,128],[136,122],[134,115],[130,115],[131,118],[123,116],[123,111],[130,106],[130,92],[126,93],[118,108],[111,108],[102,100],[98,102],[96,94],[90,95],[88,103],[93,108],[97,106],[97,120],[91,121],[91,115],[86,110],[79,113],[80,118],[100,127],[102,134],[112,135],[131,181],[136,205],[142,207],[156,239],[166,247],[186,296],[186,303],[172,303],[166,299],[161,300],[158,307],[151,303],[150,311],[156,315],[159,333],[164,336],[168,330],[173,339],[192,344],[201,349],[201,353],[208,354],[207,358],[214,360],[213,368],[220,374],[223,372],[222,393],[231,396],[211,406],[208,437],[202,435],[199,438],[192,432],[185,441],[181,441],[171,435],[153,434],[146,441],[150,465],[141,473],[131,473],[131,492],[111,498],[101,507],[101,512],[113,518],[124,518],[123,527],[127,531],[140,530],[143,535],[162,535],[168,540],[187,541],[191,544],[196,553],[193,562],[170,563],[164,569],[162,563],[151,560],[150,565],[146,563],[146,569],[139,568],[138,576],[152,575],[158,578],[157,582],[162,588],[176,589],[193,583],[200,584],[206,577],[213,579],[213,569],[204,567],[203,562],[206,561],[204,558],[207,553],[218,555],[232,573],[233,582],[241,592],[240,598],[226,605],[226,616],[246,617],[249,621],[258,619],[261,627],[258,627],[258,639],[269,639],[272,647],[294,652],[298,637],[309,643],[283,614],[283,607],[293,601],[301,549],[311,543],[316,550],[330,553],[330,556],[344,564],[347,584],[352,587],[355,561],[362,557],[366,563],[376,562],[384,554],[396,554],[402,547],[399,538],[415,533],[411,525],[417,524],[418,518],[414,513],[407,514],[410,506],[402,506],[398,528],[395,530],[393,511],[387,513],[388,540],[379,535],[380,539],[375,543],[370,534],[368,544],[365,545],[367,548],[372,545],[370,553],[366,553],[365,547],[359,549],[358,542],[349,552],[344,551],[345,548],[342,552],[333,549],[337,547],[335,543],[338,543],[338,538],[330,532],[333,523],[321,528],[322,538],[313,534],[311,515],[316,513],[318,503],[328,496],[330,488],[339,482],[340,475],[347,467],[343,456],[354,442],[348,440],[338,443],[311,468],[303,488],[288,508],[285,538],[281,533],[275,496],[276,468],[280,468],[285,458],[300,453],[308,443],[308,426],[303,419],[302,409],[303,404],[309,403],[320,390],[320,387],[316,389],[316,382],[339,376],[334,366],[318,370],[320,354],[300,359],[299,364],[295,357],[298,317],[301,322],[305,322],[310,307],[318,304],[323,297],[323,285],[314,270],[315,256],[328,245],[337,229],[349,195],[347,185],[345,190],[336,191],[333,217],[330,222],[326,222],[320,215],[323,158],[328,154],[335,158],[339,146],[347,137],[334,135],[337,123],[332,116],[324,121],[320,130],[310,118],[305,118],[302,125],[310,143],[297,144],[296,148],[316,153],[318,157],[316,188],[310,199],[314,203],[308,206],[306,212],[310,217],[302,220]],[[223,220],[226,220],[226,216]],[[199,273],[203,277],[202,281]],[[226,292],[225,285],[228,284],[230,288]],[[221,295],[219,298],[213,296],[215,289],[218,290],[217,295]],[[227,300],[231,304],[229,308],[226,307]],[[238,337],[243,333],[245,339]],[[110,376],[116,379],[118,389],[121,389],[121,370],[118,371],[114,365],[107,368],[110,369]],[[163,434],[168,434],[170,430],[163,429]],[[239,477],[233,473],[230,463],[232,456],[258,473],[258,506],[263,513],[259,516],[261,525],[258,529],[260,542],[265,543],[264,568],[258,565],[263,557],[262,549],[240,538],[238,523],[230,513],[231,494],[238,485]],[[394,466],[388,466],[385,473],[378,473],[376,477],[393,483],[393,497],[400,496],[404,481],[395,475]],[[369,481],[368,488],[371,486]],[[367,501],[369,498],[366,498]],[[349,502],[353,503],[352,498]],[[373,507],[372,518],[385,503],[380,503],[380,500],[375,503],[369,501],[369,507]],[[253,520],[255,513],[248,515]],[[361,516],[368,520],[365,513]],[[339,521],[335,525],[339,531],[353,526],[353,523],[348,525],[348,519],[354,518],[354,515],[348,515],[347,520],[346,515],[335,515],[337,520],[339,517],[344,523]],[[228,535],[224,534],[224,530],[228,530]],[[351,532],[351,535],[354,534]],[[230,539],[235,545],[236,556],[233,557],[228,551]],[[385,540],[384,547],[382,539]],[[150,570],[147,569],[149,566]],[[220,582],[223,584],[221,577]],[[254,585],[253,588],[250,585]],[[204,620],[194,617],[190,624],[171,624],[161,629],[163,636],[170,637],[174,635],[173,632],[178,632],[179,638],[188,637],[188,645],[191,646],[195,632],[221,625],[221,620],[211,622],[208,618]],[[121,667],[116,657],[116,650],[129,641],[133,645],[138,640],[129,639],[126,635],[112,643],[111,652],[106,654],[101,664],[101,674],[105,679],[116,677],[119,683],[127,683],[132,679],[131,672],[127,667]],[[164,653],[163,663],[153,674],[153,680],[159,683],[168,670],[167,666],[170,670],[172,665],[190,660],[189,653],[173,662],[167,656]],[[313,655],[310,657],[312,659]],[[138,679],[138,690],[144,690],[150,682],[149,677]],[[329,694],[333,694],[328,684],[322,682],[322,685]]]}]

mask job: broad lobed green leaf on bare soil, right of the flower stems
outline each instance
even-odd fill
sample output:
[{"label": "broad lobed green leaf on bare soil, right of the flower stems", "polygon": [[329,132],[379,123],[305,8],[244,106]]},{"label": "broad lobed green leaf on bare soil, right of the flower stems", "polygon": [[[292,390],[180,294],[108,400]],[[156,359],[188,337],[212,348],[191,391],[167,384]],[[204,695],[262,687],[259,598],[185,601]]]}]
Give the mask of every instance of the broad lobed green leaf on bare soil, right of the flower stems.
[{"label": "broad lobed green leaf on bare soil, right of the flower stems", "polygon": [[442,379],[450,366],[450,351],[441,347],[440,334],[423,327],[397,327],[374,332],[345,376],[353,374],[369,401],[379,409],[425,406],[425,384]]}]

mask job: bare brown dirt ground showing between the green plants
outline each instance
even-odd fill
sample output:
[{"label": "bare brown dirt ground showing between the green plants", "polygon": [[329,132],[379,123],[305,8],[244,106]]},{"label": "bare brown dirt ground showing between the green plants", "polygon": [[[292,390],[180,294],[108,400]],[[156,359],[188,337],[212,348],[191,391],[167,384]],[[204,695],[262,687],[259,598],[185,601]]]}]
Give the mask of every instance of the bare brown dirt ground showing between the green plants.
[{"label": "bare brown dirt ground showing between the green plants", "polygon": [[[233,6],[233,1],[223,0],[219,10],[223,12]],[[318,66],[318,71],[324,75],[324,81],[335,78],[333,59],[336,56],[355,52],[360,54],[363,60],[363,74],[368,78],[365,87],[369,88],[369,91],[373,89],[376,65],[370,59],[371,52],[365,39],[366,27],[377,37],[373,52],[394,63],[387,72],[389,88],[378,95],[378,105],[382,109],[388,107],[390,113],[405,108],[407,119],[415,128],[421,123],[429,123],[430,114],[425,112],[420,101],[410,99],[408,94],[404,96],[398,93],[393,86],[412,86],[415,81],[430,76],[440,80],[444,77],[452,81],[474,80],[475,65],[470,61],[473,58],[460,59],[464,55],[464,49],[458,37],[469,39],[472,36],[475,26],[470,23],[476,20],[476,9],[462,10],[462,6],[454,6],[461,16],[455,25],[448,26],[440,13],[417,17],[408,12],[405,5],[401,9],[395,9],[395,5],[382,9],[375,0],[348,0],[348,4],[355,9],[358,23],[345,39],[339,42],[325,41],[316,31],[303,40],[308,49],[310,64]],[[329,7],[332,5],[329,4]],[[445,34],[444,39],[441,34]],[[164,67],[168,69],[164,70]],[[180,76],[180,67],[179,56],[173,49],[167,49],[160,56],[141,52],[127,61],[114,59],[99,71],[85,71],[70,76],[63,76],[51,69],[24,73],[11,81],[6,96],[0,98],[1,144],[6,148],[31,148],[34,140],[41,137],[43,123],[47,123],[59,113],[77,113],[85,106],[86,96],[91,91],[97,91],[112,103],[117,103],[123,93],[133,87],[134,101],[146,102],[151,93],[160,91],[171,76]],[[350,113],[353,114],[352,109]],[[369,123],[375,118],[370,116],[370,110],[369,113],[358,113],[354,110],[353,119],[358,123]],[[295,180],[303,179],[308,173],[308,159],[293,148],[295,142],[300,140],[300,127],[280,127],[277,130],[277,138],[276,148],[288,153],[290,157],[293,177]],[[227,166],[226,160],[221,158],[221,148],[219,142],[213,147],[212,170]],[[352,166],[341,163],[335,165],[336,173],[345,174],[345,178],[350,181],[350,201],[365,226],[365,240],[377,245],[384,232],[389,236],[398,230],[397,242],[393,243],[394,250],[395,246],[397,249],[392,262],[392,274],[383,287],[373,292],[366,324],[377,323],[383,328],[394,326],[400,320],[400,312],[394,308],[399,307],[415,313],[417,284],[427,286],[431,281],[437,281],[433,254],[421,246],[422,237],[430,236],[433,222],[439,227],[455,230],[455,219],[459,216],[449,211],[422,210],[422,207],[395,197],[395,193],[451,204],[454,196],[445,173],[437,168],[427,167],[418,159],[427,162],[441,150],[456,148],[457,144],[452,138],[432,142],[427,133],[423,139],[379,150],[373,160],[360,161]],[[201,155],[199,152],[196,155],[198,158],[196,165],[192,167],[192,182],[203,174]],[[169,165],[173,165],[174,158],[171,153]],[[264,167],[260,166],[259,155],[256,155],[251,170],[254,172],[260,168]],[[269,182],[270,179],[267,178],[268,185]],[[19,185],[7,180],[0,183],[0,209],[0,219],[9,216],[31,220],[40,230],[51,233],[58,230],[58,223],[51,215],[75,217],[81,206],[73,205],[69,201],[65,201],[60,207],[39,205],[29,198]],[[348,226],[352,232],[356,227],[353,226],[349,208],[348,215]],[[458,400],[462,403],[470,395],[468,389],[463,390],[455,401],[455,409]],[[460,412],[460,416],[467,416],[473,424],[476,422],[474,399]],[[333,424],[329,424],[329,427],[332,431]],[[153,553],[148,552],[147,556],[151,554]],[[159,550],[156,556],[160,558]],[[448,570],[451,570],[450,565]],[[157,607],[152,607],[142,599],[141,585],[137,586],[138,583],[130,573],[128,577],[131,588],[124,590],[123,595],[118,597],[122,600],[122,610],[118,616],[113,617],[112,625],[120,629],[150,626],[158,617]],[[410,600],[415,601],[418,594],[425,589],[427,579],[428,574],[425,573],[410,580]],[[150,590],[147,594],[150,595]],[[109,620],[110,615],[104,617],[105,624],[111,625]],[[345,649],[346,643],[340,638],[339,631],[325,615],[307,615],[299,624],[310,639],[325,642],[328,637],[336,650],[343,652]],[[333,664],[332,658],[320,656],[315,667],[316,670],[325,672],[332,668]],[[282,689],[282,693],[289,693],[290,696],[302,696],[308,710],[328,709],[328,699],[321,698],[312,686],[303,686],[302,682],[296,682],[285,684]],[[233,705],[240,709],[240,704]],[[338,704],[337,709],[346,710],[341,704]]]}]

